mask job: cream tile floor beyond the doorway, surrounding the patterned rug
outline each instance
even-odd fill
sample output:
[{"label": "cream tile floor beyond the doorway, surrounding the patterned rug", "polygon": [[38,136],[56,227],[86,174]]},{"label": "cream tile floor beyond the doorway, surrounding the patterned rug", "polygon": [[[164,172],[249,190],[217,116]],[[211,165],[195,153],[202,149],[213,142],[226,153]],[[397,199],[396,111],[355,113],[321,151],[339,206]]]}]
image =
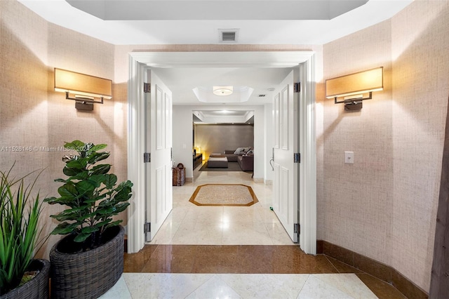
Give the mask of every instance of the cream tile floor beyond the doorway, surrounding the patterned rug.
[{"label": "cream tile floor beyond the doorway, surrounding the patterned rug", "polygon": [[[243,184],[253,188],[253,206],[196,206],[189,202],[199,185]],[[173,211],[148,244],[294,245],[272,206],[272,186],[251,173],[201,171],[194,182],[173,187]]]}]

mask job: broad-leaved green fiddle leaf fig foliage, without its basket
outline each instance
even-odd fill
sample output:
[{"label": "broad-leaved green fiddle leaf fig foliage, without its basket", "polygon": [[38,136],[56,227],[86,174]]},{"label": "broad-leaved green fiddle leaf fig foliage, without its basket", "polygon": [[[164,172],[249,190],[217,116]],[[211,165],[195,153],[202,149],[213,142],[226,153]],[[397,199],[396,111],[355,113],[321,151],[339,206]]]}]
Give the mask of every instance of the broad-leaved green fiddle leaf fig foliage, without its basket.
[{"label": "broad-leaved green fiddle leaf fig foliage, without its basket", "polygon": [[116,175],[108,173],[111,165],[97,164],[109,157],[109,152],[100,152],[107,145],[74,140],[65,142],[64,147],[77,154],[62,157],[65,162],[62,173],[68,178],[55,180],[63,183],[58,188],[60,197],[44,201],[69,207],[50,216],[60,221],[51,234],[74,234],[74,241],[89,244],[83,246],[86,251],[100,246],[105,230],[122,222],[113,220],[113,216],[129,206],[133,183],[126,180],[117,185]]}]

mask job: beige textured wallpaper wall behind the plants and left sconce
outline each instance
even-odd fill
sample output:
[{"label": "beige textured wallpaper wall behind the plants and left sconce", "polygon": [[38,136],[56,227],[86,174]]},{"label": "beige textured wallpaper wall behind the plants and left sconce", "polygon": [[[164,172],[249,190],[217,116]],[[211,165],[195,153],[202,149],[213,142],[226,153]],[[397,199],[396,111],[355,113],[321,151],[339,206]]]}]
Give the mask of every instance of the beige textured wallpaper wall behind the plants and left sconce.
[{"label": "beige textured wallpaper wall behind the plants and left sconce", "polygon": [[[46,149],[79,139],[109,145],[112,171],[120,180],[126,178],[126,160],[120,164],[114,152],[115,96],[95,105],[93,112],[79,112],[73,101],[53,91],[54,67],[114,79],[114,46],[52,25],[17,1],[0,1],[0,12],[0,169],[14,161],[17,177],[44,169],[36,190],[42,198],[56,196],[60,183],[53,180],[65,177],[61,158],[66,153]],[[25,150],[13,152],[10,147]],[[43,234],[48,234],[57,224],[48,215],[61,207],[44,207]],[[51,237],[39,255],[48,256],[59,238]]]}]

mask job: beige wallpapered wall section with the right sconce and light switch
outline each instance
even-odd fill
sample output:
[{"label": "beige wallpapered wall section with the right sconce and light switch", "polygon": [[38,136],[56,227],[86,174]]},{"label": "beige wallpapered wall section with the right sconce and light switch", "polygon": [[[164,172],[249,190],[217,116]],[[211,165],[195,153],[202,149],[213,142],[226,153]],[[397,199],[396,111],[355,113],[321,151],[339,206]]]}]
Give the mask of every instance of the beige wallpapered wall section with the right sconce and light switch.
[{"label": "beige wallpapered wall section with the right sconce and light switch", "polygon": [[[393,150],[391,142],[391,35],[385,21],[324,46],[326,79],[384,67],[384,91],[363,109],[324,104],[323,209],[326,241],[390,264]],[[344,164],[344,152],[354,164]]]}]

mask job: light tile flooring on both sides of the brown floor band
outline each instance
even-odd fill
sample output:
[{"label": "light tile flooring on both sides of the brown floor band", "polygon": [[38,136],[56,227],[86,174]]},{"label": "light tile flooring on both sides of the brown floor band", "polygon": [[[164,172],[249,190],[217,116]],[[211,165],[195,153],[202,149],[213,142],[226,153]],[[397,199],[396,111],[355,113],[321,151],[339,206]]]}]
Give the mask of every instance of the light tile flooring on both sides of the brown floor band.
[{"label": "light tile flooring on both sides of the brown floor band", "polygon": [[[198,168],[197,168],[198,169]],[[253,188],[248,207],[195,206],[197,186],[236,183]],[[194,182],[173,187],[173,211],[149,244],[292,245],[269,208],[272,186],[250,173],[194,172]],[[377,298],[356,274],[123,273],[101,298]]]}]

